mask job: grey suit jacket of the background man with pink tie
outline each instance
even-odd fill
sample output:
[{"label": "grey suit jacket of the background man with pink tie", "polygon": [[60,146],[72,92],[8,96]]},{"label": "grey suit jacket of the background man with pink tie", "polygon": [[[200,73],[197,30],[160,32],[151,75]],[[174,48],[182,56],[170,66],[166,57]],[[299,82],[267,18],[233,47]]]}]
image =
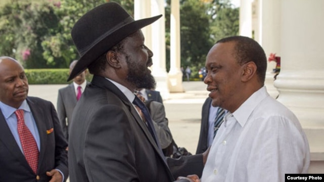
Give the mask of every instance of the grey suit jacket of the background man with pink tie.
[{"label": "grey suit jacket of the background man with pink tie", "polygon": [[76,96],[73,83],[59,89],[57,97],[57,115],[62,126],[63,134],[68,140],[69,123],[72,119],[73,109],[76,105]]}]

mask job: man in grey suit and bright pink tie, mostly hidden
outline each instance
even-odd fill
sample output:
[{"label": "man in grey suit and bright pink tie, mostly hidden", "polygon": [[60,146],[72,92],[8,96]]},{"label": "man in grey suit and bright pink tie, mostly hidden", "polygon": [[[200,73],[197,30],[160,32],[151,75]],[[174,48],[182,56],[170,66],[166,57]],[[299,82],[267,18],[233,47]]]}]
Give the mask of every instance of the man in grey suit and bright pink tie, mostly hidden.
[{"label": "man in grey suit and bright pink tie, mostly hidden", "polygon": [[[70,73],[76,62],[77,60],[74,60],[70,64]],[[86,73],[87,70],[83,71],[73,79],[71,84],[59,89],[56,108],[64,136],[67,140],[69,137],[68,128],[72,119],[73,109],[87,86]]]}]

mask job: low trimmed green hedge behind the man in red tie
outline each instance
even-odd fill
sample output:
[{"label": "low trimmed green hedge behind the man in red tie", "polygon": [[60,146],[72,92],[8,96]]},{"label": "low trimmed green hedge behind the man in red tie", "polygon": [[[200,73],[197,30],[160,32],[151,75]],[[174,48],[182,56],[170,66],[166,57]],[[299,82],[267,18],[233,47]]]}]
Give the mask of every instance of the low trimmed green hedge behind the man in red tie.
[{"label": "low trimmed green hedge behind the man in red tie", "polygon": [[[25,69],[29,84],[67,84],[69,69]],[[91,81],[93,75],[87,74],[86,79]]]}]

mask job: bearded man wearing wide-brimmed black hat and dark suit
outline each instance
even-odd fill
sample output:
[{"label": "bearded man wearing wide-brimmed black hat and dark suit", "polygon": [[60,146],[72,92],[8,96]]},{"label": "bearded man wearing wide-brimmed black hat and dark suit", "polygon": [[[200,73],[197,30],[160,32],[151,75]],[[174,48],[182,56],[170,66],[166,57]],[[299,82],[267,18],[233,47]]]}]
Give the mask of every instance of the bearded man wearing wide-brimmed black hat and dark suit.
[{"label": "bearded man wearing wide-brimmed black hat and dark suit", "polygon": [[71,182],[165,182],[178,175],[201,174],[206,155],[171,160],[171,172],[150,116],[133,94],[136,88],[155,86],[147,68],[153,53],[144,45],[140,29],[160,17],[135,21],[118,4],[106,3],[75,23],[71,35],[80,59],[68,80],[87,68],[94,77],[72,115]]}]

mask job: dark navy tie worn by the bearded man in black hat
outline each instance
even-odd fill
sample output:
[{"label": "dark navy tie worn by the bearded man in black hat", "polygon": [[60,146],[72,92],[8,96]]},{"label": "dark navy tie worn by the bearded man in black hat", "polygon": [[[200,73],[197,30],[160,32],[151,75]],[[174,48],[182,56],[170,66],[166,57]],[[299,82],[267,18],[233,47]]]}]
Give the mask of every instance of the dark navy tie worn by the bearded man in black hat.
[{"label": "dark navy tie worn by the bearded man in black hat", "polygon": [[135,96],[133,104],[135,104],[136,106],[138,106],[141,109],[141,111],[144,114],[144,117],[146,119],[148,130],[150,131],[151,135],[153,136],[153,139],[154,139],[155,143],[157,144],[158,148],[160,150],[162,150],[159,142],[157,142],[157,136],[156,136],[156,132],[154,129],[153,121],[152,121],[151,116],[148,112],[148,109],[146,108],[144,103],[137,96]]}]

